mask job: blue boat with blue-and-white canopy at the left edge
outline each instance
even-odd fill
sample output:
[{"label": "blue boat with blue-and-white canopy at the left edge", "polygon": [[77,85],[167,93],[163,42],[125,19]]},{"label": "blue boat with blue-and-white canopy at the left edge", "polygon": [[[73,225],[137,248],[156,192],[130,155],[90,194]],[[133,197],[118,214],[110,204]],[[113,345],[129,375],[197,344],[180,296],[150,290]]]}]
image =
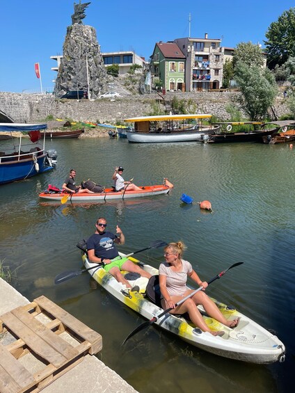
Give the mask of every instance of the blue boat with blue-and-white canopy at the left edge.
[{"label": "blue boat with blue-and-white canopy at the left edge", "polygon": [[[17,144],[12,138],[10,145],[0,145],[0,184],[26,179],[54,168],[57,153],[45,150],[45,135],[41,141],[40,129],[47,129],[47,124],[0,123],[0,133],[20,131]],[[24,138],[24,132],[30,138]]]}]

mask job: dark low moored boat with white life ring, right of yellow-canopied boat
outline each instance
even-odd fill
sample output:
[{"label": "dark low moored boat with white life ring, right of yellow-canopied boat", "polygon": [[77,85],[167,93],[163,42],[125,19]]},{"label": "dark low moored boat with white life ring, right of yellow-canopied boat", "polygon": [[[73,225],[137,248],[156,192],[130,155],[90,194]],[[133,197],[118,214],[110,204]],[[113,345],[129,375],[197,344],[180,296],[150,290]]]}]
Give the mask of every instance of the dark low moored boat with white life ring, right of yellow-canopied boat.
[{"label": "dark low moored boat with white life ring, right of yellow-canopied boat", "polygon": [[233,126],[261,125],[264,127],[266,124],[263,125],[262,122],[218,122],[214,125],[225,127],[226,131],[210,135],[206,141],[208,143],[262,142],[262,137],[274,134],[280,129],[280,127],[272,127],[271,129],[261,128],[253,131],[231,132]]}]

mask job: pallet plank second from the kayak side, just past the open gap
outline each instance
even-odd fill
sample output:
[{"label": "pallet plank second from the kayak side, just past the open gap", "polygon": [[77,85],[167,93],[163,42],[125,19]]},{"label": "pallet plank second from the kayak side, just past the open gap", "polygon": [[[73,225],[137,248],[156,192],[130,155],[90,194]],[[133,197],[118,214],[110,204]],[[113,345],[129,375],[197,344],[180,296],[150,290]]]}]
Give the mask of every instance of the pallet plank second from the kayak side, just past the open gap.
[{"label": "pallet plank second from the kayak side, just past the open gap", "polygon": [[64,339],[47,329],[43,323],[37,321],[31,314],[22,310],[22,307],[17,307],[11,313],[20,319],[29,329],[33,330],[36,335],[47,342],[47,344],[67,358],[67,360],[79,355],[77,349],[73,348],[72,345],[65,342]]}]

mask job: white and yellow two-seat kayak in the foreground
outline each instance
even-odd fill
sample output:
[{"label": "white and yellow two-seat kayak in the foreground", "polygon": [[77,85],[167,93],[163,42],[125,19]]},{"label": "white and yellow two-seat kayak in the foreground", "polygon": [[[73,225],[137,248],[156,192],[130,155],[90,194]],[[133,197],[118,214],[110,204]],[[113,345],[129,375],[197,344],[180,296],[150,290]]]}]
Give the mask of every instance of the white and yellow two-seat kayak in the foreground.
[{"label": "white and yellow two-seat kayak in the foreground", "polygon": [[[121,257],[125,255],[120,253]],[[146,319],[151,320],[154,316],[159,316],[164,310],[146,296],[146,289],[148,279],[139,277],[134,280],[129,280],[131,287],[138,285],[139,292],[129,291],[124,284],[118,282],[109,273],[106,273],[103,268],[97,264],[88,261],[86,252],[82,251],[83,264],[89,270],[88,273],[102,286],[106,291],[115,296],[122,303],[130,307],[132,310],[138,312]],[[129,259],[134,264],[139,264],[145,271],[152,275],[158,275],[157,268],[138,261],[133,257]],[[123,275],[128,274],[122,272]],[[128,275],[125,276],[128,278]],[[149,292],[149,291],[148,291]],[[209,332],[202,332],[196,326],[193,326],[190,321],[186,321],[183,316],[175,316],[173,314],[165,314],[159,317],[155,322],[160,328],[167,330],[180,339],[183,339],[189,344],[201,348],[215,355],[223,356],[234,360],[241,360],[244,362],[253,362],[257,364],[267,364],[285,360],[285,346],[280,339],[273,335],[262,326],[258,325],[252,319],[248,318],[241,312],[238,312],[232,306],[227,306],[223,303],[213,299],[219,310],[225,316],[225,319],[240,318],[237,328],[231,329],[222,325],[215,319],[206,316],[202,307],[200,312],[203,314],[207,325],[212,330],[223,330],[225,334],[222,337],[214,337]],[[136,322],[135,322],[136,323]]]}]

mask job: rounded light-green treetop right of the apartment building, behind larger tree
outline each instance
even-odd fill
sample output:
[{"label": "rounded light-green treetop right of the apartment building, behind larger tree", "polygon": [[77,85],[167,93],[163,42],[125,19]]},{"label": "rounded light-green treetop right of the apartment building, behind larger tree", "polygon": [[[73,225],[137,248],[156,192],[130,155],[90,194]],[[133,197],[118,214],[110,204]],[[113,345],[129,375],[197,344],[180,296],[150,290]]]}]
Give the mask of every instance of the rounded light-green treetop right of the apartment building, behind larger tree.
[{"label": "rounded light-green treetop right of the apartment building, behind larger tree", "polygon": [[252,42],[240,42],[234,49],[234,55],[232,56],[234,67],[236,67],[238,61],[242,61],[249,67],[252,65],[262,66],[264,64],[262,49]]}]

